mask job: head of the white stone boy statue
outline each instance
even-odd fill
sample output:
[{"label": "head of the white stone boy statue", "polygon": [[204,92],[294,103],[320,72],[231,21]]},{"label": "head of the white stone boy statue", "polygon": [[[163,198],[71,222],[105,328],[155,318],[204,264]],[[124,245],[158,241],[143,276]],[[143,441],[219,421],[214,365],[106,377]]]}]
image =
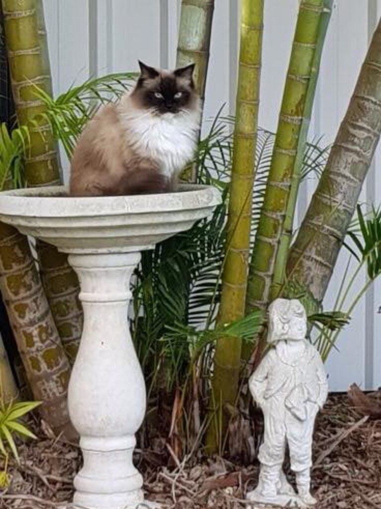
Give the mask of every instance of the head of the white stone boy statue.
[{"label": "head of the white stone boy statue", "polygon": [[269,306],[268,342],[301,341],[307,334],[307,315],[297,299],[276,299]]}]

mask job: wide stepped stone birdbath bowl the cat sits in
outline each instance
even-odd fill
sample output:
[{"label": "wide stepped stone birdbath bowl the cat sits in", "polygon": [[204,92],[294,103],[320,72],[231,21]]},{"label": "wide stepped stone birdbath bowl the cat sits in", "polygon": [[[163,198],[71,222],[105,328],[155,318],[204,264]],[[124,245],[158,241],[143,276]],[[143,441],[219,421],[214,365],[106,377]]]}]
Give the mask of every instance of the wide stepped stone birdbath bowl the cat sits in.
[{"label": "wide stepped stone birdbath bowl the cat sits in", "polygon": [[214,186],[183,184],[178,192],[129,195],[67,195],[66,186],[0,193],[0,221],[67,253],[152,249],[188,230],[221,203]]}]

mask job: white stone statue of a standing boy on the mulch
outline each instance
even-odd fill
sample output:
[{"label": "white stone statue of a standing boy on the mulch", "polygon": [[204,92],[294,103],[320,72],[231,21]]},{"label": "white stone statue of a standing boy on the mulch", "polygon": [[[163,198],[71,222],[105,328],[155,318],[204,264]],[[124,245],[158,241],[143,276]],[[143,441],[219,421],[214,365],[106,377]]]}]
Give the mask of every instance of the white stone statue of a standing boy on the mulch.
[{"label": "white stone statue of a standing boy on the mulch", "polygon": [[[253,502],[291,507],[316,503],[310,493],[312,434],[316,414],[327,399],[328,382],[306,333],[307,316],[299,300],[276,299],[270,305],[270,350],[249,379],[250,392],[265,416],[259,483],[247,493]],[[286,443],[298,494],[282,470]]]}]

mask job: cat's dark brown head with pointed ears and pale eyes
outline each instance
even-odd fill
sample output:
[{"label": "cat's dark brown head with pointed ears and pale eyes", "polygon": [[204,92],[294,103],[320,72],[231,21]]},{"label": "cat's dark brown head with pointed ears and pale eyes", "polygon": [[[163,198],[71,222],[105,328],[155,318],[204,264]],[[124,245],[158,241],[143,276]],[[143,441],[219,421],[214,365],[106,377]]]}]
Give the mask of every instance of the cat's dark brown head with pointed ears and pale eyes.
[{"label": "cat's dark brown head with pointed ears and pale eyes", "polygon": [[131,93],[136,104],[163,114],[177,114],[197,108],[194,90],[194,64],[174,71],[154,69],[139,61],[140,76]]}]

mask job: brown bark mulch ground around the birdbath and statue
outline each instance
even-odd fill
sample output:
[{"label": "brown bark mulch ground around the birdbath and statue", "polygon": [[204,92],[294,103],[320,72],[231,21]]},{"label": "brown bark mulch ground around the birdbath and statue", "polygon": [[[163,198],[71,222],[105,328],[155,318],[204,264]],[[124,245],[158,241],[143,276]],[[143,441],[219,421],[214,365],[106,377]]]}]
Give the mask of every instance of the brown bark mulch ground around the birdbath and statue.
[{"label": "brown bark mulch ground around the birdbath and statue", "polygon": [[[42,429],[38,441],[20,445],[20,465],[10,465],[0,509],[71,507],[65,502],[72,497],[80,450],[47,435]],[[239,509],[257,482],[257,465],[193,458],[168,468],[155,457],[154,451],[138,451],[136,457],[146,497],[173,509]],[[364,415],[347,395],[331,395],[317,420],[312,479],[316,509],[381,509],[380,416]]]}]

